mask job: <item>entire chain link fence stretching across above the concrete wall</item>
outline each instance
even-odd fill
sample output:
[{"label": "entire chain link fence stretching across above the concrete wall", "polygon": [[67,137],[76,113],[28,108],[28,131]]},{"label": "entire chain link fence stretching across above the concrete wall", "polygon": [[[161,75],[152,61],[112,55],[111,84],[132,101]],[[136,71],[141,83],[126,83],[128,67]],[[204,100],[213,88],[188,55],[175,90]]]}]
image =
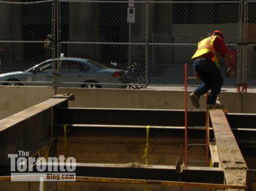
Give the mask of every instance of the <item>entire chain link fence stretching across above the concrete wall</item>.
[{"label": "entire chain link fence stretching across above the concrete wall", "polygon": [[[235,78],[228,77],[227,63],[219,61],[224,86],[256,86],[254,1],[130,3],[0,1],[1,72],[24,71],[40,63],[28,72],[0,75],[1,83],[15,79],[55,87],[183,85],[184,63],[189,63],[188,75],[194,75],[190,63],[197,43],[220,30],[237,71]],[[200,82],[190,79],[189,84]]]}]

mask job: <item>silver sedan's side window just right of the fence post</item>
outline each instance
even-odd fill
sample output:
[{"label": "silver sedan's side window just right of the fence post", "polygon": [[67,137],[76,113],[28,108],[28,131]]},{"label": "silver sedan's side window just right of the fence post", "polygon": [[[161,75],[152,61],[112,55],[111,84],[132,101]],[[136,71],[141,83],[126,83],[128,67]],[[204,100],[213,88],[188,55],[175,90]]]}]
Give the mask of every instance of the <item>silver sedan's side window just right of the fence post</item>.
[{"label": "silver sedan's side window just right of the fence post", "polygon": [[79,71],[88,71],[90,67],[87,64],[74,62],[74,61],[62,61],[61,71],[68,72],[79,72]]}]

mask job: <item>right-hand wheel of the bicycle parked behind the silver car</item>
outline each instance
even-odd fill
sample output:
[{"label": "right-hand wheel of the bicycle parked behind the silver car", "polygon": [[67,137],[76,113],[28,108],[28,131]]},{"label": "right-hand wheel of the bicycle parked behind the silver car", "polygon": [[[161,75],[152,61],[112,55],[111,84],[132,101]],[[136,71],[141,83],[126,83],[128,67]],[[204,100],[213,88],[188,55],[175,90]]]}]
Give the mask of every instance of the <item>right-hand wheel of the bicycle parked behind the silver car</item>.
[{"label": "right-hand wheel of the bicycle parked behind the silver car", "polygon": [[134,71],[129,75],[128,81],[132,89],[141,89],[147,87],[148,84],[146,84],[146,82],[148,82],[149,79],[146,80],[146,76],[142,72]]}]

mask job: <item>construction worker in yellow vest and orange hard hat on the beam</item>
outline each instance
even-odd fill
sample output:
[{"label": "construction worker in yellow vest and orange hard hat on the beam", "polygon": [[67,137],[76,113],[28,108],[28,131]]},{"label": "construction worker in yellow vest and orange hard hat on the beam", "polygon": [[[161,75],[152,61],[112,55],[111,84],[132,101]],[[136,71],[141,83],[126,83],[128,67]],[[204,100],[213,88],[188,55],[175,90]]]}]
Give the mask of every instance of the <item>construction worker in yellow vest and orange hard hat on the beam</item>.
[{"label": "construction worker in yellow vest and orange hard hat on the beam", "polygon": [[196,108],[200,107],[200,96],[206,94],[210,89],[211,93],[207,97],[207,108],[223,108],[223,105],[216,103],[217,95],[220,93],[223,84],[218,65],[218,56],[225,57],[229,64],[227,70],[229,76],[234,77],[232,59],[224,43],[223,34],[220,31],[214,31],[210,37],[198,43],[197,51],[192,57],[193,67],[198,77],[203,81],[203,84],[189,95],[192,104]]}]

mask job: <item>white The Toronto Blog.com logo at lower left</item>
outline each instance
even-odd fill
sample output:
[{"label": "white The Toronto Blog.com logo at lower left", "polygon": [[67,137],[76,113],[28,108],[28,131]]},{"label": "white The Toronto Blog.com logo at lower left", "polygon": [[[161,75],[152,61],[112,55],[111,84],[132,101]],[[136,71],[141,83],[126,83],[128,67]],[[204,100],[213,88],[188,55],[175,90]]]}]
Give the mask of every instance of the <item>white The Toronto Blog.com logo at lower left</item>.
[{"label": "white The Toronto Blog.com logo at lower left", "polygon": [[[76,159],[57,157],[30,157],[28,151],[8,154],[11,181],[76,181]],[[43,191],[43,189],[42,189]]]}]

